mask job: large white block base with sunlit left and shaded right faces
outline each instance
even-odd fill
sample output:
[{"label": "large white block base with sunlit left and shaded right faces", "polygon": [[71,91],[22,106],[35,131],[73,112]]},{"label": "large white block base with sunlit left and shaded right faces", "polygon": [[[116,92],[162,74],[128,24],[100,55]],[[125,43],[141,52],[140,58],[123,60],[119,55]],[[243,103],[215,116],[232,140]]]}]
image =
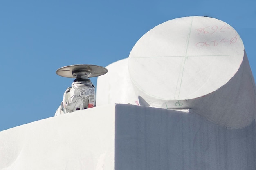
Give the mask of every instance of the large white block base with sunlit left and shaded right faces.
[{"label": "large white block base with sunlit left and shaded right faces", "polygon": [[255,121],[117,104],[0,132],[0,170],[255,170]]}]

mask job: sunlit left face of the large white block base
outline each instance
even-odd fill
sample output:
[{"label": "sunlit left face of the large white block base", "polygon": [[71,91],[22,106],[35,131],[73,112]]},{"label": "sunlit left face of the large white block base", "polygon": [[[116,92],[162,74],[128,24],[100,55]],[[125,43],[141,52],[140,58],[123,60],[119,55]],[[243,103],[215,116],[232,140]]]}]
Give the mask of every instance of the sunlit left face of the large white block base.
[{"label": "sunlit left face of the large white block base", "polygon": [[0,170],[113,170],[114,105],[0,132]]}]

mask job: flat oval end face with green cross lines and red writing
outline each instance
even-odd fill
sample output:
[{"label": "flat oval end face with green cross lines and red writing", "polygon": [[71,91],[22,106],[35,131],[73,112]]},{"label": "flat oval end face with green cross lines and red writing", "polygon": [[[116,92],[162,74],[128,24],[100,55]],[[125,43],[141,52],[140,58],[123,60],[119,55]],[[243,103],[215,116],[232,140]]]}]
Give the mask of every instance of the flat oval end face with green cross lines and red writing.
[{"label": "flat oval end face with green cross lines and red writing", "polygon": [[225,85],[243,57],[243,42],[229,24],[193,16],[148,31],[132,48],[128,66],[133,84],[147,97],[186,100]]}]

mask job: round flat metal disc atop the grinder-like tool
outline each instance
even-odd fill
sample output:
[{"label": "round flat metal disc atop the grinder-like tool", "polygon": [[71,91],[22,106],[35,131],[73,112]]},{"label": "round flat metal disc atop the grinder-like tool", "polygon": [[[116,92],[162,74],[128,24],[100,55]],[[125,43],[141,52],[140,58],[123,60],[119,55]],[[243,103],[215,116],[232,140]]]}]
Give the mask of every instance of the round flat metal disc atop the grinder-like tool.
[{"label": "round flat metal disc atop the grinder-like tool", "polygon": [[89,73],[88,77],[97,77],[108,72],[107,68],[96,65],[77,64],[61,67],[56,71],[56,74],[67,78],[76,78],[75,73]]}]

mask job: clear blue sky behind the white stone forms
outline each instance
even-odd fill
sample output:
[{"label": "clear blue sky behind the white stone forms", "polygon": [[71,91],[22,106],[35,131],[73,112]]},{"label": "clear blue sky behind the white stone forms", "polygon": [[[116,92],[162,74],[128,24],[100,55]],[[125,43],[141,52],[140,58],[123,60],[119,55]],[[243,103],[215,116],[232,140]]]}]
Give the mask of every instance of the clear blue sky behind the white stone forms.
[{"label": "clear blue sky behind the white stone forms", "polygon": [[1,0],[0,131],[54,116],[73,81],[58,68],[107,66],[153,27],[184,16],[236,29],[256,77],[256,0]]}]

